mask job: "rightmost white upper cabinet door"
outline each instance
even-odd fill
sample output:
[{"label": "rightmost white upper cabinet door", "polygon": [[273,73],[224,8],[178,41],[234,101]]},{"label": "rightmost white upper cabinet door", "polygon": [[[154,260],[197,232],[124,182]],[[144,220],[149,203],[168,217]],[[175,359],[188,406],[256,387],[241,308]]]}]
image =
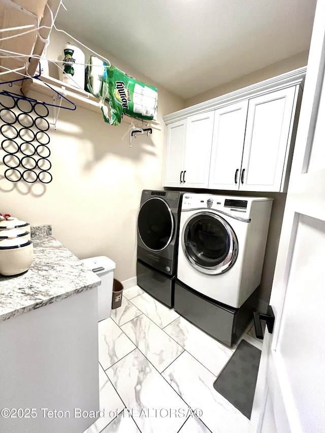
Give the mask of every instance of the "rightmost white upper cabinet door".
[{"label": "rightmost white upper cabinet door", "polygon": [[250,99],[240,189],[281,191],[295,96],[296,86]]}]

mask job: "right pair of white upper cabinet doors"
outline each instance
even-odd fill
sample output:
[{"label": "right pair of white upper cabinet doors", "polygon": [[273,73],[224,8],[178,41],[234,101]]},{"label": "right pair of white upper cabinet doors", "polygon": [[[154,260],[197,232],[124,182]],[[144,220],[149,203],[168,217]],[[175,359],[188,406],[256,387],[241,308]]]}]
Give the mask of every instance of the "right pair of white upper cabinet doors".
[{"label": "right pair of white upper cabinet doors", "polygon": [[298,86],[215,111],[211,189],[283,191]]}]

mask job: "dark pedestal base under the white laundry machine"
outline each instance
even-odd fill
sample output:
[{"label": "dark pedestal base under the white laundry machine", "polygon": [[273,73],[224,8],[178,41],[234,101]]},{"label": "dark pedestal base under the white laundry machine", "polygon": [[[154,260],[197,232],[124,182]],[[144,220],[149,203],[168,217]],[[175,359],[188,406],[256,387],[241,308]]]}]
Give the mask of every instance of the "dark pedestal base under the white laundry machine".
[{"label": "dark pedestal base under the white laundry machine", "polygon": [[220,304],[176,280],[174,309],[211,337],[233,346],[253,317],[250,298],[238,309]]}]

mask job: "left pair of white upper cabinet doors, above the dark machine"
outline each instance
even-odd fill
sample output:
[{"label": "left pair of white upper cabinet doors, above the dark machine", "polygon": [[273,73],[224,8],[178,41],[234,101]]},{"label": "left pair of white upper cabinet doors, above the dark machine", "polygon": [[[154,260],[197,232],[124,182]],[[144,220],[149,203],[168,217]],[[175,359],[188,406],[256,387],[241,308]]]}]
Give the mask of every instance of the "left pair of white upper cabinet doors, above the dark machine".
[{"label": "left pair of white upper cabinet doors, above the dark machine", "polygon": [[165,186],[207,188],[214,111],[167,126]]}]

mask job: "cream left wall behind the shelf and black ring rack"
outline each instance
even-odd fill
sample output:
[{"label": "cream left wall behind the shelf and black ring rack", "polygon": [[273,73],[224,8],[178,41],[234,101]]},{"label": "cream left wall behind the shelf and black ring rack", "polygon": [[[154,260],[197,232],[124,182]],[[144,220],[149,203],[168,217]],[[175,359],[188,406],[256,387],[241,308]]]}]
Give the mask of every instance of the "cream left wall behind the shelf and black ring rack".
[{"label": "cream left wall behind the shelf and black ring rack", "polygon": [[[66,36],[53,32],[48,57],[57,59],[66,42]],[[103,55],[127,74],[154,85],[108,53]],[[56,68],[50,66],[50,74],[56,74]],[[51,102],[41,94],[29,92],[28,96]],[[161,116],[183,107],[182,99],[158,87],[158,121],[163,130],[138,136],[131,149],[127,123],[111,126],[101,113],[61,109],[57,130],[51,127],[48,132],[53,181],[48,185],[11,183],[4,179],[5,167],[0,162],[0,213],[32,225],[52,224],[53,236],[77,257],[106,255],[116,262],[117,279],[135,277],[141,192],[163,188],[165,125]],[[2,161],[3,153],[0,156]]]}]

